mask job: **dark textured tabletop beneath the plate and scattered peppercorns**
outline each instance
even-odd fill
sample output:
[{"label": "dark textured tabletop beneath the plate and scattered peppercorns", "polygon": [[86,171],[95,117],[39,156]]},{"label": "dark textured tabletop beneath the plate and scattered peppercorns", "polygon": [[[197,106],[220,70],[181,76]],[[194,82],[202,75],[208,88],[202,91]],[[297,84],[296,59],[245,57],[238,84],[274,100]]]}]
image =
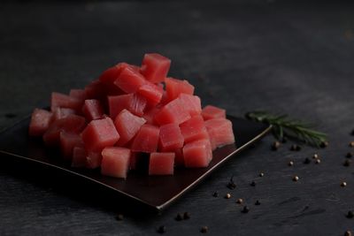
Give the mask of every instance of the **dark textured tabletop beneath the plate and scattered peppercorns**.
[{"label": "dark textured tabletop beneath the plate and scattered peppercorns", "polygon": [[[48,105],[51,91],[81,88],[109,65],[139,64],[143,53],[158,51],[173,59],[170,74],[196,85],[204,103],[235,116],[255,109],[288,113],[316,124],[330,140],[325,149],[291,152],[288,142],[271,151],[267,136],[163,214],[126,210],[122,221],[116,217],[125,202],[95,197],[96,188],[68,190],[71,179],[60,173],[42,171],[41,178],[21,163],[1,164],[0,234],[155,235],[159,225],[166,235],[196,235],[204,225],[208,235],[354,231],[354,218],[345,217],[354,210],[354,165],[342,165],[354,140],[353,11],[342,1],[0,4],[2,128]],[[321,164],[303,164],[315,152]],[[226,187],[232,175],[235,190]],[[223,198],[227,193],[231,199]],[[190,219],[176,221],[184,211]]]}]

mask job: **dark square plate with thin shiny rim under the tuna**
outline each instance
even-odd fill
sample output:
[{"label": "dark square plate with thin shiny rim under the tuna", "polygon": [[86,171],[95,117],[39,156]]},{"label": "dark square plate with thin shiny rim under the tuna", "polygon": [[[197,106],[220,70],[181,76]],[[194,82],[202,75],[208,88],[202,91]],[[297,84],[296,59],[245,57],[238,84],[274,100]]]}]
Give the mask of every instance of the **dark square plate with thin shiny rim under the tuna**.
[{"label": "dark square plate with thin shiny rim under the tuna", "polygon": [[99,171],[81,170],[70,167],[60,157],[56,149],[45,148],[41,140],[29,138],[27,129],[30,118],[20,121],[0,133],[0,157],[14,157],[19,160],[42,164],[44,167],[57,168],[84,180],[107,187],[135,201],[155,209],[164,209],[191,187],[216,170],[220,164],[235,156],[265,135],[271,126],[258,124],[243,118],[228,117],[234,127],[235,144],[218,148],[213,152],[212,163],[207,168],[176,169],[173,176],[146,176],[131,171],[126,180],[102,176]]}]

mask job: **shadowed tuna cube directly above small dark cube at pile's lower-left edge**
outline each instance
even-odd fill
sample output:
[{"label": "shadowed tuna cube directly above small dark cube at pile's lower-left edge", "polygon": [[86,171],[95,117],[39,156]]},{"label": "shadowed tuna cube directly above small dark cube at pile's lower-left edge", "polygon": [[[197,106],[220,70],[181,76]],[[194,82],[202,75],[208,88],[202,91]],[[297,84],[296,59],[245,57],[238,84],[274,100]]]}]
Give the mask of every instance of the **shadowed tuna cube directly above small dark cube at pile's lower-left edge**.
[{"label": "shadowed tuna cube directly above small dark cube at pile's lower-left edge", "polygon": [[84,147],[80,134],[60,132],[60,149],[65,158],[72,159],[75,147]]}]

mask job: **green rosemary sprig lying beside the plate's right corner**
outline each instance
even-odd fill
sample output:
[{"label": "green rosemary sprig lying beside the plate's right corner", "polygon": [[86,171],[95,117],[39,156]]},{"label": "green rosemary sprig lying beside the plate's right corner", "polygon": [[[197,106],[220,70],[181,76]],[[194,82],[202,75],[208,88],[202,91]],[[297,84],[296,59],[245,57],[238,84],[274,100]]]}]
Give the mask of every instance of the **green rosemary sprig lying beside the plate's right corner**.
[{"label": "green rosemary sprig lying beside the plate's right corner", "polygon": [[280,141],[290,138],[318,148],[327,142],[326,133],[316,131],[311,124],[289,118],[288,115],[273,115],[267,111],[257,110],[246,113],[246,118],[272,125],[273,135]]}]

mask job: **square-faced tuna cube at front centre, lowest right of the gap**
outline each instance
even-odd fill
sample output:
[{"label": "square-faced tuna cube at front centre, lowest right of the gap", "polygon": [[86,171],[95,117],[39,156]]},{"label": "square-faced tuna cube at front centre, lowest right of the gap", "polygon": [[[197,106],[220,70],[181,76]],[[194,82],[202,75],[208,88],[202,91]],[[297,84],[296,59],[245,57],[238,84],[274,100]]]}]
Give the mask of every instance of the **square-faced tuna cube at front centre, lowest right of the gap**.
[{"label": "square-faced tuna cube at front centre, lowest right of the gap", "polygon": [[153,152],[150,154],[149,175],[173,175],[173,166],[173,152]]}]

